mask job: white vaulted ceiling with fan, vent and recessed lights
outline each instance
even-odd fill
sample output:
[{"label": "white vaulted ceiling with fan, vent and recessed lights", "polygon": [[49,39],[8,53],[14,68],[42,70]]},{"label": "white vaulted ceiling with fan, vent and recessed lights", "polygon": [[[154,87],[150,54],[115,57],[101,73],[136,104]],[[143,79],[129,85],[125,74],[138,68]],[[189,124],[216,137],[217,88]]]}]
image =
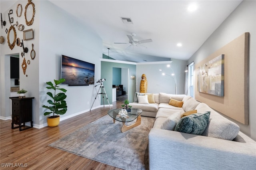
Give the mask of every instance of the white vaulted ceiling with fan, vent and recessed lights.
[{"label": "white vaulted ceiling with fan, vent and recessed lights", "polygon": [[[144,62],[188,60],[242,0],[50,0],[90,26],[102,38],[103,53],[117,60]],[[2,9],[16,1],[1,0]],[[190,4],[197,10],[189,12]],[[124,24],[120,17],[130,17]],[[126,34],[152,39],[131,46]],[[182,43],[181,47],[177,43]],[[109,51],[108,51],[108,48]]]}]

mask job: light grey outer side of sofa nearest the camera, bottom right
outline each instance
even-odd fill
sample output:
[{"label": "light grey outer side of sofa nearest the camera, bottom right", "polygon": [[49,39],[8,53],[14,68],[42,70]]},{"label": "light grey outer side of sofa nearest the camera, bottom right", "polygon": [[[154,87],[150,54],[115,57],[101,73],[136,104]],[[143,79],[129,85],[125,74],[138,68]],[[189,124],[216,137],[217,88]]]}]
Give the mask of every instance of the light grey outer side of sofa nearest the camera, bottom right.
[{"label": "light grey outer side of sofa nearest the camera, bottom right", "polygon": [[156,128],[150,130],[148,138],[150,170],[256,167],[256,142],[234,142]]}]

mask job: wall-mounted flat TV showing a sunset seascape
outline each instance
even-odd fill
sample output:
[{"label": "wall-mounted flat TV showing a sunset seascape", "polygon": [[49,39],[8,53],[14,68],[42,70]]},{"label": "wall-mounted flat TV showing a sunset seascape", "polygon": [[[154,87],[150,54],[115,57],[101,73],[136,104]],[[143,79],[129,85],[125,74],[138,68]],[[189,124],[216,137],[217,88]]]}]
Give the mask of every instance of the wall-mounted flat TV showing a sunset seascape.
[{"label": "wall-mounted flat TV showing a sunset seascape", "polygon": [[95,64],[62,55],[60,77],[66,79],[62,84],[90,85],[94,84]]}]

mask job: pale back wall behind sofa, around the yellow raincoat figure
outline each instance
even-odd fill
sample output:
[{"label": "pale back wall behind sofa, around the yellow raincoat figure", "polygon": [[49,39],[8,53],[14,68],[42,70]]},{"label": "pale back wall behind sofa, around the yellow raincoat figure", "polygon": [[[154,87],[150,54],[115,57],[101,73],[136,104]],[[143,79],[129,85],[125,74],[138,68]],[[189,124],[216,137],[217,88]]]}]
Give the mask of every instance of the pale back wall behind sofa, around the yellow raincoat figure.
[{"label": "pale back wall behind sofa, around the yellow raincoat figure", "polygon": [[[175,94],[175,81],[171,76],[172,70],[166,67],[167,63],[158,64],[157,62],[150,62],[153,64],[137,64],[136,66],[136,91],[140,92],[140,81],[142,74],[146,74],[148,80],[148,93],[170,93]],[[177,80],[177,94],[184,94],[185,81],[185,66],[186,61],[179,59],[172,59],[170,64]],[[162,71],[159,71],[162,69]],[[162,75],[162,73],[168,75]]]}]

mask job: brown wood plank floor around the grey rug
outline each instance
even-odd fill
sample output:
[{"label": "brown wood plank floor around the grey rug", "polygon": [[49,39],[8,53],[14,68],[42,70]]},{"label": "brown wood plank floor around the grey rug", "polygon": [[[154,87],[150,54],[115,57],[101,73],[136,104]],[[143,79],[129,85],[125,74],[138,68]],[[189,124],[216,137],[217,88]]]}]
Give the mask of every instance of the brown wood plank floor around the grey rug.
[{"label": "brown wood plank floor around the grey rug", "polygon": [[[120,108],[126,96],[119,96],[112,108]],[[11,129],[11,120],[0,120],[0,169],[20,169],[16,164],[30,170],[120,170],[75,154],[48,146],[74,130],[107,114],[109,106],[83,113],[61,121],[57,127]],[[4,167],[9,164],[12,167]]]}]

